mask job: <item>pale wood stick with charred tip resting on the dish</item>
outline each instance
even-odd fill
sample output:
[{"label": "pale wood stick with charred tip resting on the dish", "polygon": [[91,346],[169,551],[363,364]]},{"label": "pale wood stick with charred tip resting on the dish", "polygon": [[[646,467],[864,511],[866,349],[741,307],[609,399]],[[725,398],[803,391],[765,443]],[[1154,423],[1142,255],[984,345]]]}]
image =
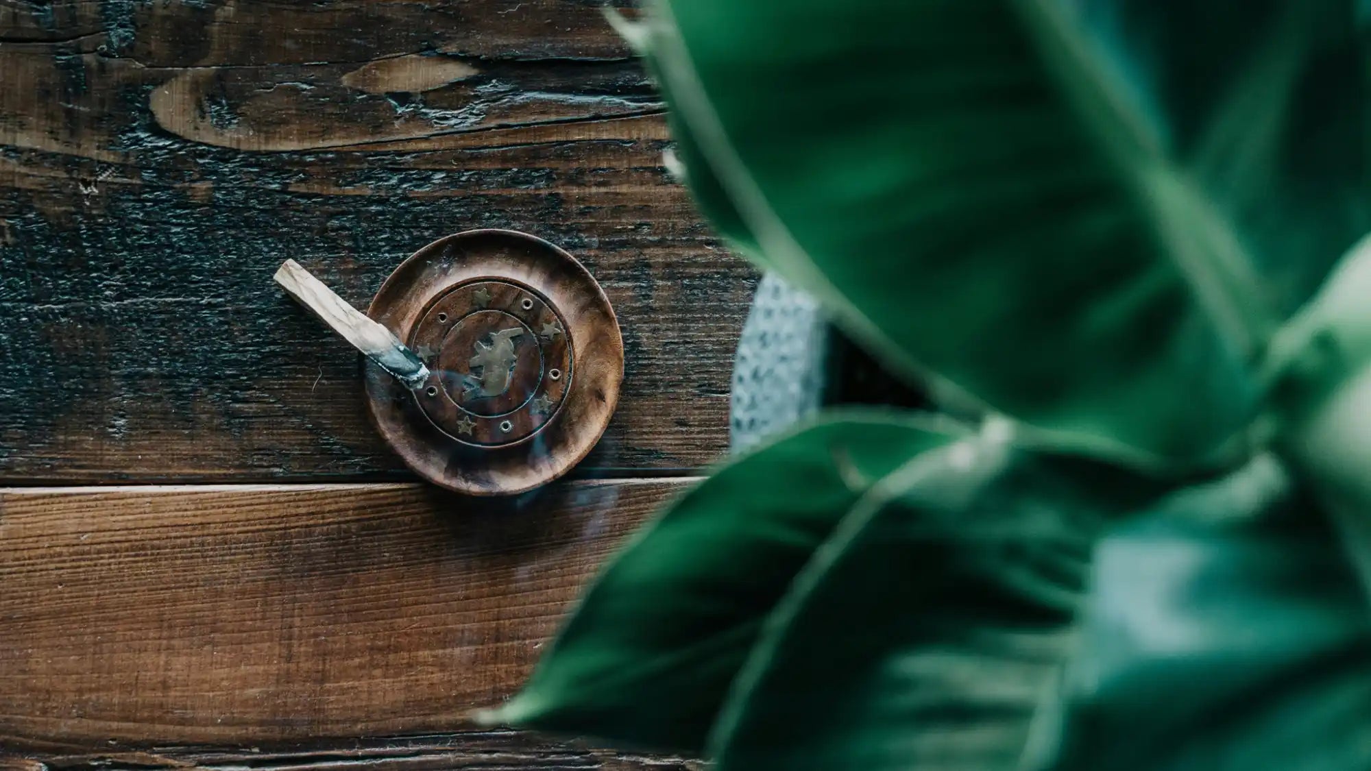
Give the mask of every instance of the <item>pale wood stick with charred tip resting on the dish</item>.
[{"label": "pale wood stick with charred tip resting on the dish", "polygon": [[333,289],[325,287],[299,262],[293,259],[282,262],[276,270],[276,283],[407,388],[420,388],[428,380],[428,366],[409,346],[393,332],[333,294]]}]

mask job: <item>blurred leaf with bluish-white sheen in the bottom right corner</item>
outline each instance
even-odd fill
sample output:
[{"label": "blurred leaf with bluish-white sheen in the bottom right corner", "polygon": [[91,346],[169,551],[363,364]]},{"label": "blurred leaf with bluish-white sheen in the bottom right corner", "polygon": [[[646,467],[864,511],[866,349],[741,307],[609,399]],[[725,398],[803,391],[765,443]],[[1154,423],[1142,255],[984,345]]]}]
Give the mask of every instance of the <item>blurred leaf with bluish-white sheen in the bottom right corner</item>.
[{"label": "blurred leaf with bluish-white sheen in the bottom right corner", "polygon": [[[1061,771],[1371,767],[1371,613],[1327,516],[1271,458],[1104,539]],[[1049,722],[1052,723],[1052,722]]]}]

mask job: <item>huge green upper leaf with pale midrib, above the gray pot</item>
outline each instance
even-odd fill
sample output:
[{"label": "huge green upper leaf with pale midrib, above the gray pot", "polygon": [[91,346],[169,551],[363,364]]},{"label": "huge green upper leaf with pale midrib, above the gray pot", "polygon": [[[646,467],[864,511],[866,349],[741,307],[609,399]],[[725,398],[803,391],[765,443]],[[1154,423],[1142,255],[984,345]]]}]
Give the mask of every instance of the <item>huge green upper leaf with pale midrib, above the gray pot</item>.
[{"label": "huge green upper leaf with pale midrib, above the gray pot", "polygon": [[654,10],[683,161],[768,265],[1054,446],[1230,457],[1275,324],[1371,225],[1350,0]]}]

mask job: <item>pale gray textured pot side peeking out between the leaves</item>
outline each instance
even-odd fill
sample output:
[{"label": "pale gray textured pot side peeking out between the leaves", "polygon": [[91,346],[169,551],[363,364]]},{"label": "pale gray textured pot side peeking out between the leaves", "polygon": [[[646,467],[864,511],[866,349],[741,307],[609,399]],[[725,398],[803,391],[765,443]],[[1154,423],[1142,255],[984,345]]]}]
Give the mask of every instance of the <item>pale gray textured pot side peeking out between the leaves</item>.
[{"label": "pale gray textured pot side peeking out between the leaves", "polygon": [[817,410],[831,335],[813,298],[773,274],[757,284],[733,362],[729,436],[746,449]]}]

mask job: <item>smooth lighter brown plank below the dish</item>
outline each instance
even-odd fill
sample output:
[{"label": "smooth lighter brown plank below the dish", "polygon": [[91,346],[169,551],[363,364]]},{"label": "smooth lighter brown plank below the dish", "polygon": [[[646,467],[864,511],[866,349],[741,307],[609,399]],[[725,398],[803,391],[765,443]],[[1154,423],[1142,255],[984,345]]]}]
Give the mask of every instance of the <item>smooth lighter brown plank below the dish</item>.
[{"label": "smooth lighter brown plank below the dish", "polygon": [[0,745],[459,728],[683,484],[0,490]]}]

